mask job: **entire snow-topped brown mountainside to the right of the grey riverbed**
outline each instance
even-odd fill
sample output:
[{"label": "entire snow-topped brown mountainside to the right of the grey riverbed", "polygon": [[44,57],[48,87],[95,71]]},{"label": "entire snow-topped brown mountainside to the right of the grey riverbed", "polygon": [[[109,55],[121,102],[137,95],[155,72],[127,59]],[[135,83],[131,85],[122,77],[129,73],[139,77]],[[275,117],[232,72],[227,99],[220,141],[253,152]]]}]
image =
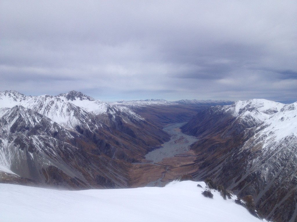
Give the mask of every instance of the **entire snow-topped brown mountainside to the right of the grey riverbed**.
[{"label": "entire snow-topped brown mountainside to the right of the grey riverbed", "polygon": [[272,221],[297,217],[297,103],[238,101],[201,112],[182,130],[200,140],[196,180],[212,178],[240,197],[252,195]]}]

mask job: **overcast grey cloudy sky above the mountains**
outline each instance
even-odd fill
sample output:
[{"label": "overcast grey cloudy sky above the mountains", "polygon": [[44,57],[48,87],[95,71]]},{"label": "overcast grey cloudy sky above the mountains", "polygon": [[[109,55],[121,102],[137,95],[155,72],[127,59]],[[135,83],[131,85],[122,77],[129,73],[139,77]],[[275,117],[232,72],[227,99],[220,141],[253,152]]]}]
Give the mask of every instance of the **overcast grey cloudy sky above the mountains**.
[{"label": "overcast grey cloudy sky above the mountains", "polygon": [[0,91],[297,101],[297,1],[3,1]]}]

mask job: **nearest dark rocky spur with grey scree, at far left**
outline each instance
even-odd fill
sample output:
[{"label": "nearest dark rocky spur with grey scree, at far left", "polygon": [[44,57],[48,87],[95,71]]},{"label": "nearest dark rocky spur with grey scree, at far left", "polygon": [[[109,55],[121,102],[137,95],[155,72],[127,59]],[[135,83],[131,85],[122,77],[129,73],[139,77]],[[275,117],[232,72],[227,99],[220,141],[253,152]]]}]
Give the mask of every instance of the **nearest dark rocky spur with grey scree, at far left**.
[{"label": "nearest dark rocky spur with grey scree, at far left", "polygon": [[[0,119],[2,182],[38,184],[65,188],[118,187],[127,179],[121,161],[92,155],[79,144],[88,140],[49,118],[14,106]],[[95,144],[89,142],[89,146]],[[100,165],[108,167],[102,168]]]}]

